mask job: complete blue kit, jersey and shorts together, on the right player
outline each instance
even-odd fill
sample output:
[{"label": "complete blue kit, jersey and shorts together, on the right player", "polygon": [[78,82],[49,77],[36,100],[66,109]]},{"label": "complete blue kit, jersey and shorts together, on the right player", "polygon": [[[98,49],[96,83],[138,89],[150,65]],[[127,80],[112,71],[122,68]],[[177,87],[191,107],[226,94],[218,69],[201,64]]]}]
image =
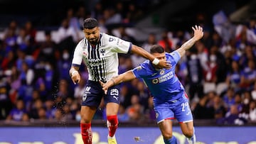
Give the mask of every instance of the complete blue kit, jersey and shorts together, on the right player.
[{"label": "complete blue kit, jersey and shorts together, on the right player", "polygon": [[142,78],[154,96],[156,121],[176,118],[179,123],[193,121],[188,96],[175,74],[175,66],[181,56],[177,51],[166,53],[166,60],[171,62],[171,69],[156,70],[149,60],[143,62],[132,72],[135,77]]}]

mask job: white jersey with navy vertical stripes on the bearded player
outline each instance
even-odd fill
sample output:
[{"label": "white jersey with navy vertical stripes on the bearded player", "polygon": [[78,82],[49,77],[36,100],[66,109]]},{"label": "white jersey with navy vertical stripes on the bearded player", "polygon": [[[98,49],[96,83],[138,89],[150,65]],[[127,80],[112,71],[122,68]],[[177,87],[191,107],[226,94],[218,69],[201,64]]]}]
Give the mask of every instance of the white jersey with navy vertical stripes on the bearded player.
[{"label": "white jersey with navy vertical stripes on the bearded player", "polygon": [[87,66],[89,80],[107,82],[118,75],[118,53],[127,53],[132,43],[100,33],[100,42],[92,47],[86,38],[80,40],[75,48],[72,65],[79,67],[82,60]]}]

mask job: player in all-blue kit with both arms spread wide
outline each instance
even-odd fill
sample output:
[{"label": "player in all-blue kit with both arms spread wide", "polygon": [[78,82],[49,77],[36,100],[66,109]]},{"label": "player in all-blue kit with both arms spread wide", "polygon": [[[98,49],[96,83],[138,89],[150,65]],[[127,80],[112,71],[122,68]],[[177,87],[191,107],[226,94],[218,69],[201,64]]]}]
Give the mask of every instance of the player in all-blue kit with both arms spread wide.
[{"label": "player in all-blue kit with both arms spread wide", "polygon": [[186,136],[188,143],[196,143],[193,116],[188,104],[188,96],[175,74],[175,67],[178,60],[185,55],[186,50],[191,48],[197,40],[203,37],[203,28],[201,26],[193,27],[193,32],[193,38],[186,41],[186,43],[181,45],[181,48],[178,48],[174,52],[167,53],[160,45],[153,45],[151,47],[151,54],[159,60],[171,62],[171,69],[159,69],[152,65],[149,60],[146,60],[139,67],[134,68],[134,70],[129,70],[128,72],[119,74],[117,77],[112,77],[107,83],[100,82],[102,89],[107,93],[120,82],[142,78],[154,98],[156,121],[166,144],[177,143],[176,138],[172,135],[172,121],[170,121],[174,118],[180,123],[181,131]]}]

